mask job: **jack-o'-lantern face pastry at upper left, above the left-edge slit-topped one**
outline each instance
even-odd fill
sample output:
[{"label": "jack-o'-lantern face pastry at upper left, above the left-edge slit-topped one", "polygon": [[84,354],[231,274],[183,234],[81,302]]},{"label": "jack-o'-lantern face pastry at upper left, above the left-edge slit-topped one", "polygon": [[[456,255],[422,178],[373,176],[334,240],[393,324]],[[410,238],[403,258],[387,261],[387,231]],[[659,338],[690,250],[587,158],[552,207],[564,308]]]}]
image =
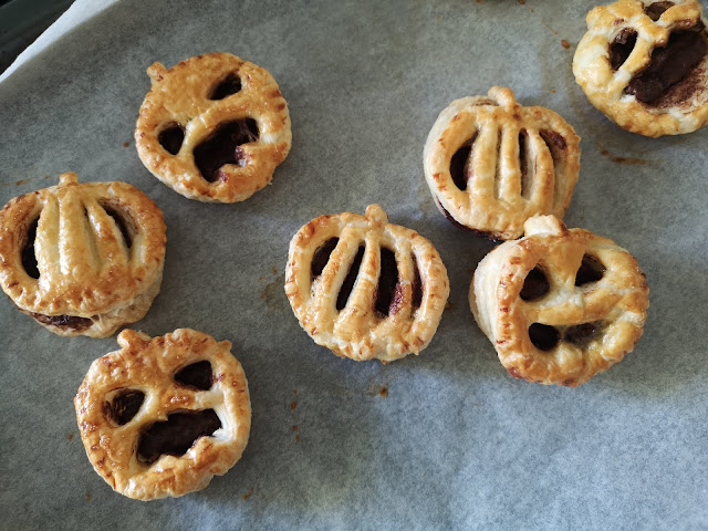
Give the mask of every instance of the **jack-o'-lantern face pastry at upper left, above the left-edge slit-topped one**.
[{"label": "jack-o'-lantern face pastry at upper left, above the left-edge slit-topped one", "polygon": [[270,184],[291,145],[290,114],[271,74],[230,53],[147,69],[135,145],[145,167],[189,199],[236,202]]}]

